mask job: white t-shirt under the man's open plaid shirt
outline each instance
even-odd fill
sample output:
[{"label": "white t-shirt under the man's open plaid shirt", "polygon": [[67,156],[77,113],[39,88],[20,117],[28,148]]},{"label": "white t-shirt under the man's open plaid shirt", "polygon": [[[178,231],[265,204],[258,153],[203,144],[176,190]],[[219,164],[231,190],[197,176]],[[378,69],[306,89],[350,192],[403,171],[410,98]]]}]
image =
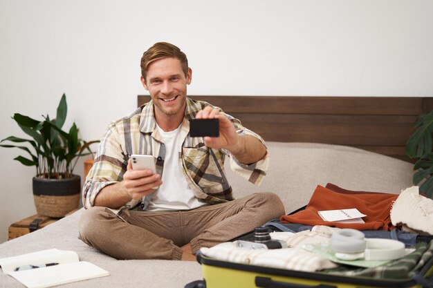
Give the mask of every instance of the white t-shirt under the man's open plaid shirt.
[{"label": "white t-shirt under the man's open plaid shirt", "polygon": [[163,184],[151,194],[146,211],[189,210],[207,205],[195,197],[181,171],[181,126],[169,132],[156,126],[165,144]]}]

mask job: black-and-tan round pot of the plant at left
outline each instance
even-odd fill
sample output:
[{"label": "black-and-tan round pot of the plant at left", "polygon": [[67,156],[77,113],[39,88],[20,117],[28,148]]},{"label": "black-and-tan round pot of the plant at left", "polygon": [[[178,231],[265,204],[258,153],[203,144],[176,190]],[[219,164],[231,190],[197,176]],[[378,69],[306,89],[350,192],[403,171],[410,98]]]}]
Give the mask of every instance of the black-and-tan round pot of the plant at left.
[{"label": "black-and-tan round pot of the plant at left", "polygon": [[73,175],[67,179],[33,177],[33,198],[39,215],[62,218],[78,208],[81,195],[81,179]]}]

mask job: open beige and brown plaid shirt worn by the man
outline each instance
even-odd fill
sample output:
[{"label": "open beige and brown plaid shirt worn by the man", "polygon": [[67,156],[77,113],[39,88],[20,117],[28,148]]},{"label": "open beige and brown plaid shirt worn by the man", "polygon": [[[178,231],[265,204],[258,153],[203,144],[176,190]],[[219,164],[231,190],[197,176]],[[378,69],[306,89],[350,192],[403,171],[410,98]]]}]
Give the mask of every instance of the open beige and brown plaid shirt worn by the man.
[{"label": "open beige and brown plaid shirt worn by the man", "polygon": [[[196,113],[206,106],[207,102],[194,101],[187,98],[185,118],[181,124],[181,137],[184,139],[178,161],[188,185],[196,198],[210,204],[227,202],[233,199],[232,187],[224,172],[225,155],[230,152],[225,149],[208,148],[203,143],[203,137],[190,137],[189,119],[194,119]],[[213,108],[217,108],[212,106]],[[221,111],[221,108],[218,108]],[[223,111],[221,111],[223,113]],[[223,113],[233,123],[238,135],[252,135],[263,144],[264,140],[256,133],[244,128],[238,119]],[[107,128],[98,147],[98,153],[83,187],[84,207],[92,207],[96,195],[105,186],[122,181],[127,171],[129,155],[153,155],[156,161],[157,173],[162,175],[165,159],[163,138],[156,128],[154,104],[150,102],[140,106],[127,117],[112,122]],[[230,157],[230,169],[241,177],[259,186],[268,170],[269,156],[252,164],[241,164]],[[141,200],[131,200],[123,209],[133,209],[141,202],[141,209],[146,209],[150,195]]]}]

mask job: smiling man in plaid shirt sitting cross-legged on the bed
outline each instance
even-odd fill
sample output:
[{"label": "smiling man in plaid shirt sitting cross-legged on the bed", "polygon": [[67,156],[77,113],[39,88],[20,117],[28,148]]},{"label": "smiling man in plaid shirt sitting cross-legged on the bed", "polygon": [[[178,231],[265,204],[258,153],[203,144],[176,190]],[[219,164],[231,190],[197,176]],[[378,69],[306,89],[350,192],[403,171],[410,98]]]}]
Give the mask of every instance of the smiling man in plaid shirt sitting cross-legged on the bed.
[{"label": "smiling man in plaid shirt sitting cross-legged on the bed", "polygon": [[[201,247],[283,215],[273,193],[233,200],[225,155],[231,169],[260,184],[266,146],[220,108],[187,98],[192,70],[186,55],[156,43],[143,54],[141,69],[151,101],[111,123],[100,142],[84,184],[80,238],[118,259],[194,260]],[[219,119],[219,137],[190,137],[194,118]],[[132,170],[132,154],[154,155],[156,173]]]}]

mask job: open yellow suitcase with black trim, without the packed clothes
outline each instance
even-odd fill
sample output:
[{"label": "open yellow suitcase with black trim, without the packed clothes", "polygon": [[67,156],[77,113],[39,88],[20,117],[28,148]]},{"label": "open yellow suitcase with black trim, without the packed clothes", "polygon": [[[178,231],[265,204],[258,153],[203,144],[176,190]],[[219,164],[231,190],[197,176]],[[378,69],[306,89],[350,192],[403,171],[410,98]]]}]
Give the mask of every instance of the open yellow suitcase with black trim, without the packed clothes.
[{"label": "open yellow suitcase with black trim, without the packed clothes", "polygon": [[[304,209],[305,207],[302,207],[288,215],[292,215]],[[270,222],[267,224],[269,223]],[[270,230],[284,231],[278,229],[282,228],[279,226],[280,225],[270,225]],[[233,240],[251,240],[252,233],[253,231]],[[432,236],[417,236],[416,242],[430,243],[430,245],[427,244],[427,247],[430,247],[431,249],[433,245],[432,238]],[[397,238],[395,238],[395,240],[397,240]],[[201,264],[203,280],[191,282],[187,284],[185,288],[433,287],[433,256],[424,259],[421,267],[418,267],[419,269],[416,269],[416,273],[412,274],[412,276],[399,279],[373,278],[367,276],[343,276],[323,271],[306,272],[290,269],[276,269],[216,260],[203,255],[197,256],[197,260]]]}]

